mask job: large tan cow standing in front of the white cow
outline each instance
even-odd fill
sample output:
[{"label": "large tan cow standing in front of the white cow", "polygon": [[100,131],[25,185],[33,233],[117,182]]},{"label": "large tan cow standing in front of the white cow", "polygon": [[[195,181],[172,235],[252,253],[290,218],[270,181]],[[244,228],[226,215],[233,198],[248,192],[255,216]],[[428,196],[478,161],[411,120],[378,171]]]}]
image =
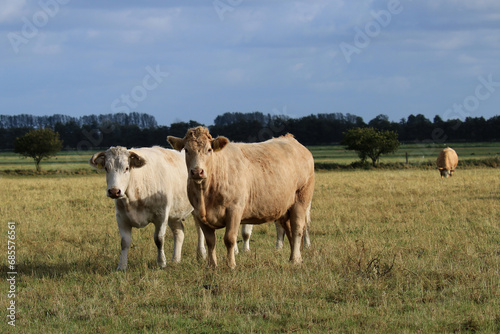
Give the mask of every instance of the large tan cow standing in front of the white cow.
[{"label": "large tan cow standing in front of the white cow", "polygon": [[290,134],[242,144],[225,137],[213,139],[204,127],[189,129],[182,139],[169,136],[168,142],[186,151],[188,197],[205,234],[209,266],[217,266],[216,229],[226,228],[227,263],[234,268],[240,222],[275,220],[287,232],[290,261],[302,262],[301,239],[314,191],[314,160],[309,150]]}]

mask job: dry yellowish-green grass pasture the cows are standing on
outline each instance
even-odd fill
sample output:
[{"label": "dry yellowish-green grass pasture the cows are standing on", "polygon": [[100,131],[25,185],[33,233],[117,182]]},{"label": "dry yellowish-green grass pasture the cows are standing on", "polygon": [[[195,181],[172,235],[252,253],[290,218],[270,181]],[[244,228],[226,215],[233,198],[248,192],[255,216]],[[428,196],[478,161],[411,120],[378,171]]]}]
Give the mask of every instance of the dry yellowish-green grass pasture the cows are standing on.
[{"label": "dry yellowish-green grass pasture the cows are standing on", "polygon": [[[16,223],[17,330],[500,332],[500,169],[459,168],[447,180],[422,169],[316,176],[302,265],[288,263],[287,242],[274,250],[265,224],[233,271],[218,231],[220,265],[209,270],[190,218],[180,264],[157,269],[149,226],[133,230],[125,273],[115,271],[120,236],[104,174],[1,176],[5,254]],[[171,250],[168,230],[167,258]],[[5,260],[1,268],[6,277]],[[8,282],[0,287],[7,332]]]}]

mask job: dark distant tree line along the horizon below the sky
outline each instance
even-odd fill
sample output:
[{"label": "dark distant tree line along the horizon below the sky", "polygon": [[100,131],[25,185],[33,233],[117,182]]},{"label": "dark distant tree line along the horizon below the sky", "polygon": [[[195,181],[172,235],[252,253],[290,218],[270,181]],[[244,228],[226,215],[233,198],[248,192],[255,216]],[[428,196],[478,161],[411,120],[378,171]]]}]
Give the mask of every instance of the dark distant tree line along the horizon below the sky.
[{"label": "dark distant tree line along the horizon below the sky", "polygon": [[[189,121],[158,126],[153,116],[139,113],[90,115],[81,118],[64,115],[43,117],[37,119],[37,116],[32,115],[0,115],[0,149],[12,150],[15,139],[34,128],[51,128],[58,132],[64,149],[92,150],[116,145],[168,146],[167,136],[183,137],[187,129],[203,125]],[[435,116],[431,121],[418,114],[399,122],[391,122],[388,116],[378,115],[365,123],[359,116],[341,113],[291,118],[261,112],[233,112],[217,116],[214,124],[208,127],[213,136],[224,135],[239,142],[259,142],[292,133],[304,145],[330,145],[341,142],[347,130],[365,127],[394,131],[402,142],[500,141],[500,116],[489,119],[468,117],[464,121],[445,121],[440,116]]]}]

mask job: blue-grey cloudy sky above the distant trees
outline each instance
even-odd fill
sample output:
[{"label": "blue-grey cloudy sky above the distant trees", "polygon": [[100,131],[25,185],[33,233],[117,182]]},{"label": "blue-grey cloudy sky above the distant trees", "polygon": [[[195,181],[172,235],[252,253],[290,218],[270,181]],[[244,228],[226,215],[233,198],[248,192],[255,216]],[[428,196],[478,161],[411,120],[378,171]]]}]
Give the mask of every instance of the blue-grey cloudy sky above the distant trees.
[{"label": "blue-grey cloudy sky above the distant trees", "polygon": [[0,114],[500,114],[498,0],[2,0]]}]

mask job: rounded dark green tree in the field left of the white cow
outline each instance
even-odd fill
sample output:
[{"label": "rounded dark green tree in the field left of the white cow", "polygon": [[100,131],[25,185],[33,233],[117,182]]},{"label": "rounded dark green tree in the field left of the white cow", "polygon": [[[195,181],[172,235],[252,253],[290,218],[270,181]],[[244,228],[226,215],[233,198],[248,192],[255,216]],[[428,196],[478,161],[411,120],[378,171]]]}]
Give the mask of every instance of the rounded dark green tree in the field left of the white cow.
[{"label": "rounded dark green tree in the field left of the white cow", "polygon": [[56,155],[63,142],[59,133],[50,128],[31,130],[14,142],[14,152],[33,158],[37,172],[41,171],[40,162]]}]

